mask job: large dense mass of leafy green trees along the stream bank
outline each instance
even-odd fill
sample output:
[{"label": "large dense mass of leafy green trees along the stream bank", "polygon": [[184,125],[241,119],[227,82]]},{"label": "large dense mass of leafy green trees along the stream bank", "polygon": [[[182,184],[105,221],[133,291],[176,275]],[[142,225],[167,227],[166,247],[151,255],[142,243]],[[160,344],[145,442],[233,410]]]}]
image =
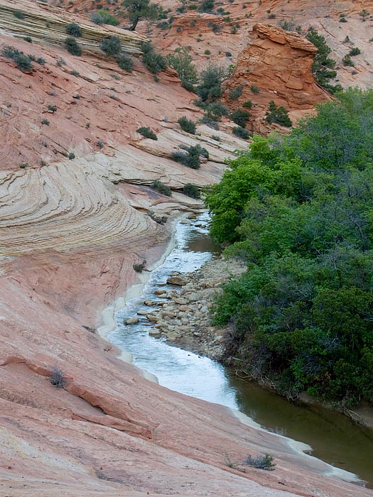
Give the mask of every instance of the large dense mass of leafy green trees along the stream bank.
[{"label": "large dense mass of leafy green trees along the stream bank", "polygon": [[371,192],[372,90],[230,162],[206,193],[211,235],[247,261],[215,303],[227,362],[287,398],[373,402]]}]

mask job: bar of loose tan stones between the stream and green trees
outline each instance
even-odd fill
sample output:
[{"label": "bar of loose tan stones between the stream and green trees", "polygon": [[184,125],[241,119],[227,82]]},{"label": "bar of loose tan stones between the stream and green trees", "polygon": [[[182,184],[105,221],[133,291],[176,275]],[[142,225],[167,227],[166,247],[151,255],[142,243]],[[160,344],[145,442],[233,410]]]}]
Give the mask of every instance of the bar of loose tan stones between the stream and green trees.
[{"label": "bar of loose tan stones between the stream and green trees", "polygon": [[[139,310],[138,315],[153,324],[148,331],[152,337],[164,337],[183,349],[220,359],[224,330],[210,323],[212,303],[222,291],[222,283],[245,269],[243,263],[225,261],[221,256],[205,263],[198,271],[186,274],[175,271],[167,278],[166,285],[154,290],[155,300],[144,301],[152,310]],[[126,324],[138,319],[130,317]]]}]

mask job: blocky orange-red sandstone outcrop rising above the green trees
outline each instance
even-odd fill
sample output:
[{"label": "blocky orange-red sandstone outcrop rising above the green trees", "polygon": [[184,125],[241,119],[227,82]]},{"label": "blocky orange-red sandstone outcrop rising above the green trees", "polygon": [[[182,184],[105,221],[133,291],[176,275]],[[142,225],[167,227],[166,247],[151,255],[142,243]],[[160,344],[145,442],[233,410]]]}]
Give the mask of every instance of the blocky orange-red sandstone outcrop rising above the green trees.
[{"label": "blocky orange-red sandstone outcrop rising above the green trees", "polygon": [[[315,53],[313,43],[298,33],[256,24],[225,84],[225,103],[237,109],[250,100],[253,107],[249,127],[254,131],[264,131],[267,126],[264,117],[271,100],[288,111],[296,111],[298,117],[313,111],[315,104],[331,98],[311,72]],[[241,96],[229,98],[229,92],[237,87],[242,88]]]}]

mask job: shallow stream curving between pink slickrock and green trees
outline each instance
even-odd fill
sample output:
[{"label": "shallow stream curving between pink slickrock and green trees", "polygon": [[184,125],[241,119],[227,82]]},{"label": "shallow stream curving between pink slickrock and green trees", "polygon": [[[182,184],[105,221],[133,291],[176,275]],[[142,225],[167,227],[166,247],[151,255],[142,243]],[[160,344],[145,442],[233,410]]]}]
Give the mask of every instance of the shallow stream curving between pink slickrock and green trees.
[{"label": "shallow stream curving between pink slickrock and green trees", "polygon": [[109,339],[131,352],[134,364],[153,373],[161,385],[210,402],[227,405],[252,417],[269,431],[309,444],[312,455],[333,466],[357,474],[373,488],[373,437],[347,417],[329,410],[308,408],[237,379],[216,361],[169,346],[148,335],[148,323],[124,326],[139,310],[151,310],[144,300],[156,300],[153,291],[166,285],[173,271],[188,273],[210,261],[219,248],[207,235],[206,214],[193,224],[178,224],[175,249],[153,273],[141,297],[117,312],[117,328]]}]

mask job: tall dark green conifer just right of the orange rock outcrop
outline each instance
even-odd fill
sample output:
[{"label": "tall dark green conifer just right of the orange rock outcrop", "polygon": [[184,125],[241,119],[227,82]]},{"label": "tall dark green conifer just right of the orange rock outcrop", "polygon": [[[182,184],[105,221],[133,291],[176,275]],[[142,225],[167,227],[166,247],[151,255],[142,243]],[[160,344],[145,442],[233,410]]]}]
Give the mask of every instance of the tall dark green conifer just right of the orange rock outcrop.
[{"label": "tall dark green conifer just right of the orange rock outcrop", "polygon": [[342,87],[340,84],[330,84],[331,80],[334,80],[337,76],[337,71],[334,70],[335,60],[328,57],[332,51],[330,47],[325,42],[325,38],[319,35],[315,29],[310,28],[306,38],[310,40],[316,48],[318,48],[318,53],[316,53],[313,58],[312,72],[315,80],[332,94],[340,92]]}]

